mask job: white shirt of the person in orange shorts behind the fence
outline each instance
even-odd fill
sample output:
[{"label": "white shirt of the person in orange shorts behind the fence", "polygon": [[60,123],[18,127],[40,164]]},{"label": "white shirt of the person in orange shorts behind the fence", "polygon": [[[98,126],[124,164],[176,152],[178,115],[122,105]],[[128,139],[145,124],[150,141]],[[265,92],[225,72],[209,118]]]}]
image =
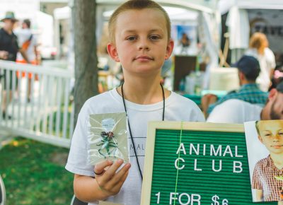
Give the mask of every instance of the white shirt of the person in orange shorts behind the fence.
[{"label": "white shirt of the person in orange shorts behind the fence", "polygon": [[[22,47],[23,43],[30,39],[30,36],[33,35],[30,29],[18,29],[14,32],[18,37],[18,46]],[[26,54],[29,61],[35,60],[35,46],[37,45],[37,39],[36,36],[33,35],[33,37],[30,40],[30,45],[28,46],[28,49],[26,50]],[[17,54],[17,60],[23,60],[22,55],[18,52]]]}]

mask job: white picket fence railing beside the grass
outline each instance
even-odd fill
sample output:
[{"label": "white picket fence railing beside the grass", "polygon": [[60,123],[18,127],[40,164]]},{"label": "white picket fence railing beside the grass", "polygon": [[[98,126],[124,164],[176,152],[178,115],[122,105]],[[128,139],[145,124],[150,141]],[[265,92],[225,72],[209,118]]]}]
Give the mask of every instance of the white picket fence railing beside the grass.
[{"label": "white picket fence railing beside the grass", "polygon": [[74,72],[0,60],[0,76],[0,135],[5,131],[68,148]]}]

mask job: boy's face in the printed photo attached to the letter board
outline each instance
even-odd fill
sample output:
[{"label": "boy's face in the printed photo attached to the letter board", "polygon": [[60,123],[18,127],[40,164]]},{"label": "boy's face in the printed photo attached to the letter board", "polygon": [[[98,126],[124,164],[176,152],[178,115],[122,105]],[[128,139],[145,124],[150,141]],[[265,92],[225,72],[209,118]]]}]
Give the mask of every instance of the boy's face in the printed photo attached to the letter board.
[{"label": "boy's face in the printed photo attached to the letter board", "polygon": [[283,120],[258,122],[260,136],[258,139],[266,146],[270,153],[283,154]]}]

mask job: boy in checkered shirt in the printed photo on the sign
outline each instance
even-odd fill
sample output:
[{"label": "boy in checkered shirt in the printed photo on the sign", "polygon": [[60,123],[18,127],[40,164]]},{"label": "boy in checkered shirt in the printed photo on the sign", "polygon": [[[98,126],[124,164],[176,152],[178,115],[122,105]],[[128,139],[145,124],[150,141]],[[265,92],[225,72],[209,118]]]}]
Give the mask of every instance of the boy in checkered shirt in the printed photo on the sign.
[{"label": "boy in checkered shirt in the printed photo on the sign", "polygon": [[283,201],[283,181],[275,178],[283,175],[283,120],[257,121],[255,127],[258,139],[270,151],[253,170],[255,201]]}]

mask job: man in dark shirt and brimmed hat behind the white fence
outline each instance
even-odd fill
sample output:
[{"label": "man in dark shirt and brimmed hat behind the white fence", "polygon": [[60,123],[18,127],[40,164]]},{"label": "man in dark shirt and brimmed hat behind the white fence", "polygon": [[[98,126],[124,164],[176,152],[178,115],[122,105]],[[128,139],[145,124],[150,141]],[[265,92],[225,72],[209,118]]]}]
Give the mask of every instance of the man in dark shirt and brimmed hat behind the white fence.
[{"label": "man in dark shirt and brimmed hat behind the white fence", "polygon": [[[17,52],[21,52],[23,57],[28,61],[28,58],[25,54],[25,51],[23,49],[19,49],[18,47],[18,40],[16,35],[13,33],[13,27],[17,21],[15,18],[15,15],[11,11],[6,12],[6,16],[1,20],[4,22],[4,27],[0,29],[0,59],[7,60],[7,61],[16,61]],[[30,61],[28,61],[29,63]],[[4,78],[4,98],[2,103],[2,114],[3,117],[6,115],[6,91],[10,90],[12,88],[12,71],[10,72],[10,79],[9,79],[9,85],[7,88],[6,85],[6,70],[4,71],[4,75],[2,76]],[[11,98],[11,93],[10,93]]]}]

